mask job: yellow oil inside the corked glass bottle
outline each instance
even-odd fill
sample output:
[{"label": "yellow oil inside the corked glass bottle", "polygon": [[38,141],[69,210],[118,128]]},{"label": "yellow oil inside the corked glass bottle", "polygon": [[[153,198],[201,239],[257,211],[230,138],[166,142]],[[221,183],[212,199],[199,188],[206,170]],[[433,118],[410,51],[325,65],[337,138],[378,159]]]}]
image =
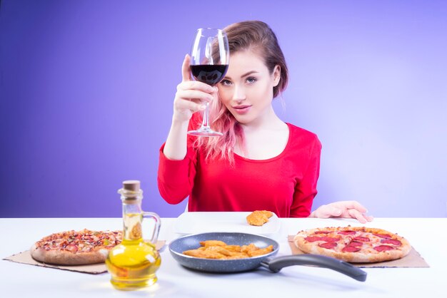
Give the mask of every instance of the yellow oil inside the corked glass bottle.
[{"label": "yellow oil inside the corked glass bottle", "polygon": [[151,286],[157,281],[155,272],[160,264],[161,257],[155,245],[142,238],[141,214],[125,214],[123,241],[106,259],[111,284],[122,290]]}]

